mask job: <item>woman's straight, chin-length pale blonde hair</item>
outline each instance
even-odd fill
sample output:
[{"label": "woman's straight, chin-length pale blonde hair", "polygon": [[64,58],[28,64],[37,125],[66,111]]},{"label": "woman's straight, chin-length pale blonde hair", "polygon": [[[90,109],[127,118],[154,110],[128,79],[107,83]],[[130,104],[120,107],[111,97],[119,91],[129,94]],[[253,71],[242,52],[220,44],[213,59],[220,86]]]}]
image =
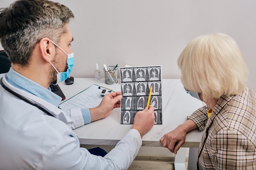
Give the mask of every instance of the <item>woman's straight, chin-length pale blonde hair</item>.
[{"label": "woman's straight, chin-length pale blonde hair", "polygon": [[248,69],[235,41],[226,34],[209,34],[193,39],[178,58],[181,82],[203,99],[241,93]]}]

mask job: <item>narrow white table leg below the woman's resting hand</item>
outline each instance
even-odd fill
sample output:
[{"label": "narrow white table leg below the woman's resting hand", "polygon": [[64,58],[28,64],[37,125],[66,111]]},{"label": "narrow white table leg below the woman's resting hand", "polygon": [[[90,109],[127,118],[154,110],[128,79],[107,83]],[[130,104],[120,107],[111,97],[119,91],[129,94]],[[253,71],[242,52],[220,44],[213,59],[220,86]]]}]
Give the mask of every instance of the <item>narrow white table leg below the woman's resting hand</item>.
[{"label": "narrow white table leg below the woman's resting hand", "polygon": [[181,147],[179,149],[179,151],[175,155],[175,159],[174,159],[174,168],[175,169],[186,170],[186,166],[185,166],[186,153],[187,153],[186,147]]}]

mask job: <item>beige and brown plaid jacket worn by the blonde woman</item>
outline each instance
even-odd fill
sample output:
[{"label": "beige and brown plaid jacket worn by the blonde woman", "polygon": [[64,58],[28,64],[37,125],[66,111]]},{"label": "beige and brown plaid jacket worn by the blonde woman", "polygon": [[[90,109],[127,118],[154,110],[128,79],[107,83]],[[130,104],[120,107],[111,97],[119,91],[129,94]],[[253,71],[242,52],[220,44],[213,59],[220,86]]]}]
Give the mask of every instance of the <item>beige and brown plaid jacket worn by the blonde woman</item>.
[{"label": "beige and brown plaid jacket worn by the blonde woman", "polygon": [[223,95],[209,120],[208,109],[188,117],[204,129],[197,169],[256,169],[256,94],[246,87],[239,95]]}]

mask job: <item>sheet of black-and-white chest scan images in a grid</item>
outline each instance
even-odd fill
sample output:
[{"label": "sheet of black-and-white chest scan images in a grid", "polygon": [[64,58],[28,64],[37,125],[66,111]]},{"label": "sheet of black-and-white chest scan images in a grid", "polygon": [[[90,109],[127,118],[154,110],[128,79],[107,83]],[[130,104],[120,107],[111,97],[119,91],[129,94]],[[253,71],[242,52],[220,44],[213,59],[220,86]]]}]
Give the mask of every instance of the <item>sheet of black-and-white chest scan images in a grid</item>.
[{"label": "sheet of black-and-white chest scan images in a grid", "polygon": [[155,125],[162,125],[161,65],[151,67],[121,67],[120,124],[133,124],[136,112],[147,106],[150,87],[150,105],[155,108]]}]

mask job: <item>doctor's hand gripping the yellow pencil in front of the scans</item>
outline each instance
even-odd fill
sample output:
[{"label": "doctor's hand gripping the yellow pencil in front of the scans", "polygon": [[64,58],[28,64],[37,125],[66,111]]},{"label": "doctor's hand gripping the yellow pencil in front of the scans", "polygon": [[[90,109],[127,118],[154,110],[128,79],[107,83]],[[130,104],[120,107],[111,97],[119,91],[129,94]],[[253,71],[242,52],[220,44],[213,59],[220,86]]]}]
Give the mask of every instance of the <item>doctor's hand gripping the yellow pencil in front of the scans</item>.
[{"label": "doctor's hand gripping the yellow pencil in front of the scans", "polygon": [[132,129],[139,131],[142,138],[153,127],[154,123],[154,108],[152,106],[149,106],[149,108],[145,107],[144,110],[135,114]]}]

